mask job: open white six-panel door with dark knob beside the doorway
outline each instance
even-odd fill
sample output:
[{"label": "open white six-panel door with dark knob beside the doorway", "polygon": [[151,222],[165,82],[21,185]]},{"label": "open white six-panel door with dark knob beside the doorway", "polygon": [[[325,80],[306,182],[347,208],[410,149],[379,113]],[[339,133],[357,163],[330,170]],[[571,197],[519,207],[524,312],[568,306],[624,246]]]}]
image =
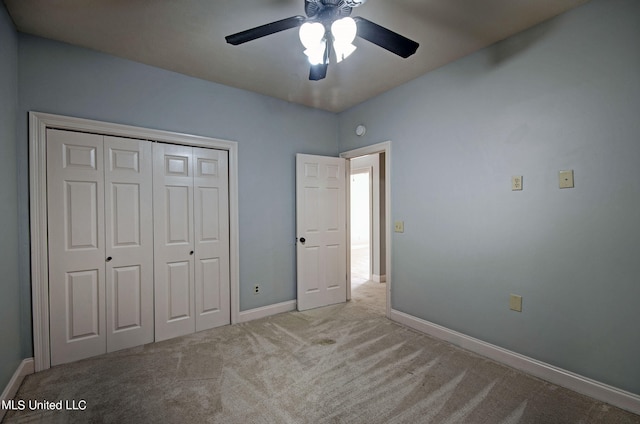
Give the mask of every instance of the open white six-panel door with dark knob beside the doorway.
[{"label": "open white six-panel door with dark knob beside the doorway", "polygon": [[298,310],[346,302],[345,159],[296,155]]}]

